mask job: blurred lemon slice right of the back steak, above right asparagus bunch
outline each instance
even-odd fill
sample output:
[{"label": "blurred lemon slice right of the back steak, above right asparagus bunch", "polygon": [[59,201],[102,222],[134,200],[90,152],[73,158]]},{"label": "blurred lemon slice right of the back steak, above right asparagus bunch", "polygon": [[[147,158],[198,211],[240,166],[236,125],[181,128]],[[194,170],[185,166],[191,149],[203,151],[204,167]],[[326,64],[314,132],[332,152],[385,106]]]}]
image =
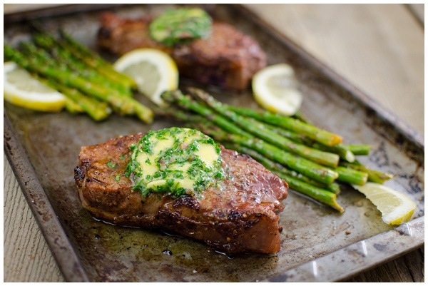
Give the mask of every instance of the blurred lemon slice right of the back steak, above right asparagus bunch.
[{"label": "blurred lemon slice right of the back steak, above right asparagus bunch", "polygon": [[262,68],[253,76],[252,87],[255,101],[268,111],[292,116],[302,105],[294,70],[286,63]]}]

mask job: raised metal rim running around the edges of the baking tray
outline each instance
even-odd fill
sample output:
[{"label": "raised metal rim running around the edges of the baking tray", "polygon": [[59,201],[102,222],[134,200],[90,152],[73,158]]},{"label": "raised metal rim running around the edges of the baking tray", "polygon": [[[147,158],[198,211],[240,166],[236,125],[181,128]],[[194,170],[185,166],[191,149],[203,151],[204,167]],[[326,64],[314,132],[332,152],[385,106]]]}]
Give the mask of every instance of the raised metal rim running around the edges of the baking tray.
[{"label": "raised metal rim running around the edges of the baking tray", "polygon": [[[82,9],[87,5],[88,9]],[[98,6],[98,9],[106,9],[111,8],[113,6],[121,6],[123,4],[101,4]],[[299,56],[304,58],[306,61],[310,62],[310,64],[317,70],[320,71],[324,76],[330,79],[337,86],[340,86],[344,91],[350,93],[353,98],[355,98],[360,105],[365,106],[365,108],[369,109],[374,113],[374,117],[378,118],[382,123],[387,123],[389,126],[392,126],[397,130],[397,134],[399,136],[403,136],[410,143],[414,143],[416,145],[415,148],[422,149],[424,152],[424,136],[421,133],[409,126],[407,123],[402,121],[396,115],[394,115],[391,111],[384,108],[384,106],[380,105],[373,98],[370,98],[365,93],[360,91],[358,88],[352,85],[345,78],[340,76],[338,73],[333,71],[327,65],[317,60],[310,53],[305,51],[302,47],[295,44],[291,39],[287,38],[287,36],[280,34],[275,28],[267,24],[267,22],[260,19],[253,11],[243,6],[242,4],[228,4],[233,6],[233,9],[240,9],[243,11],[243,14],[247,18],[251,18],[250,21],[253,21],[254,24],[263,27],[267,30],[271,36],[274,36],[277,40],[281,41],[282,44],[292,49],[293,53],[297,53]],[[72,11],[70,11],[71,9]],[[26,12],[19,11],[13,14],[8,14],[9,18],[12,19],[9,23],[14,23],[16,19],[17,21],[24,21],[26,19],[26,15],[30,18],[41,15],[44,17],[44,12],[46,10],[49,11],[61,11],[62,13],[68,14],[77,11],[91,11],[97,10],[94,8],[92,4],[72,4],[66,6],[58,6],[58,7],[49,7],[46,9],[37,9],[36,11]],[[56,15],[58,16],[58,15]],[[4,108],[5,110],[6,108]],[[384,134],[380,134],[380,136],[385,136]],[[392,138],[388,138],[387,140],[392,140]],[[44,193],[44,189],[39,182],[39,179],[36,178],[36,173],[34,171],[33,166],[31,165],[28,155],[25,151],[24,146],[21,145],[16,134],[14,133],[14,128],[11,126],[11,122],[9,121],[9,117],[6,112],[4,112],[4,153],[6,154],[6,158],[11,164],[11,168],[14,171],[14,175],[18,180],[19,186],[21,187],[22,193],[24,193],[24,197],[26,198],[27,203],[31,209],[31,213],[33,213],[34,218],[36,218],[36,222],[41,229],[41,233],[44,235],[44,238],[49,246],[49,249],[56,260],[61,273],[63,274],[66,282],[90,282],[88,276],[86,275],[86,270],[84,270],[81,265],[78,256],[76,255],[75,250],[73,249],[71,242],[68,240],[65,231],[62,228],[62,225],[58,218],[56,217],[56,213],[51,206],[49,198],[47,198],[46,193]],[[412,157],[410,155],[410,157]],[[422,159],[423,160],[423,159]],[[37,198],[40,201],[44,201],[43,204],[39,204],[34,200]],[[49,219],[46,219],[49,218]],[[419,231],[416,232],[416,235],[412,235],[412,229],[419,228]],[[422,228],[422,229],[420,229]],[[49,233],[47,230],[53,231]],[[332,259],[337,253],[340,253],[344,250],[355,250],[359,248],[359,244],[362,242],[382,242],[385,234],[391,234],[393,238],[399,238],[402,233],[410,233],[409,237],[413,238],[412,247],[406,248],[404,250],[393,250],[388,255],[382,255],[381,260],[369,261],[367,260],[367,256],[362,255],[359,260],[364,261],[364,265],[361,267],[355,267],[350,270],[350,272],[339,272],[338,267],[330,267],[320,270],[315,270],[313,267],[313,263],[325,260]],[[267,278],[266,282],[338,282],[340,280],[344,280],[347,277],[351,277],[352,275],[356,275],[359,272],[364,270],[368,270],[376,265],[387,262],[388,260],[392,260],[395,257],[399,257],[400,255],[404,255],[407,252],[410,252],[417,247],[424,245],[424,215],[419,218],[415,218],[414,220],[409,221],[408,223],[404,223],[403,225],[397,226],[397,228],[393,228],[392,230],[388,230],[384,233],[379,233],[378,235],[374,235],[370,238],[366,238],[365,240],[360,240],[359,242],[355,242],[346,247],[342,247],[340,250],[336,250],[335,252],[330,252],[327,255],[322,257],[318,257],[315,260],[310,260],[309,262],[302,263],[301,265],[297,265],[285,272],[280,273],[279,275],[274,275],[272,277]],[[311,268],[312,267],[312,268]],[[312,272],[308,269],[312,269]],[[330,271],[330,273],[329,273]],[[307,275],[306,279],[297,279],[303,278],[302,275],[299,276],[299,273],[305,273]],[[331,275],[335,274],[336,275]],[[309,275],[308,275],[309,274]],[[329,277],[330,279],[327,279]],[[334,277],[334,278],[332,278]]]}]

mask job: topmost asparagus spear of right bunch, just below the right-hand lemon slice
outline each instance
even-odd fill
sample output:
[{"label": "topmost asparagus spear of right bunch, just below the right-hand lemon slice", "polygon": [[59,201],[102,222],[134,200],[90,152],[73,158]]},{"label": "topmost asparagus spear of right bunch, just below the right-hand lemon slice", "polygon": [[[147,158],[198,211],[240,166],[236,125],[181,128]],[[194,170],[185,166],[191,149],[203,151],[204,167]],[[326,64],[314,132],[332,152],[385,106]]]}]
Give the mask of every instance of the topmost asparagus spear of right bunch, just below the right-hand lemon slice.
[{"label": "topmost asparagus spear of right bunch, just below the right-hand lemon slice", "polygon": [[340,136],[304,123],[295,118],[280,116],[270,111],[258,112],[245,107],[225,106],[225,108],[243,116],[255,118],[259,121],[270,123],[275,126],[281,126],[282,128],[286,128],[290,131],[305,134],[305,136],[327,146],[336,145],[342,142],[342,138]]}]

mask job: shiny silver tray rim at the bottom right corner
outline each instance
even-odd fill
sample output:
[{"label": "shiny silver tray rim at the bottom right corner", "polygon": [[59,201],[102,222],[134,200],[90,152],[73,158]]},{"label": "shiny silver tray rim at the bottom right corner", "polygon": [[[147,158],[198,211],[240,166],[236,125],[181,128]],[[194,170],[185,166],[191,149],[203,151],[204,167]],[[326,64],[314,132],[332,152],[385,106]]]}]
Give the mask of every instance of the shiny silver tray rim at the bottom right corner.
[{"label": "shiny silver tray rim at the bottom right corner", "polygon": [[[424,245],[424,226],[424,216],[415,218],[397,228],[286,270],[265,282],[340,282],[421,247]],[[410,247],[405,250],[399,248],[404,236],[410,238],[406,239]]]}]

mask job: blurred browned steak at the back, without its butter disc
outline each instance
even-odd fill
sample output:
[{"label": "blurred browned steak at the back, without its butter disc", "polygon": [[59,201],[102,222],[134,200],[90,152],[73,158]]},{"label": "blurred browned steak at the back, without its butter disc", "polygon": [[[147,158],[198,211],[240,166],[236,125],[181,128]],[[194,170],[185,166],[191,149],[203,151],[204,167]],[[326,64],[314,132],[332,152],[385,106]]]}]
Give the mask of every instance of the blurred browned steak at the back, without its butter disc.
[{"label": "blurred browned steak at the back, without its butter disc", "polygon": [[151,39],[150,22],[151,17],[121,19],[106,12],[101,16],[98,44],[119,55],[135,48],[161,49],[177,63],[180,76],[236,91],[247,88],[254,73],[266,66],[258,42],[229,24],[214,22],[208,39],[170,48]]}]

